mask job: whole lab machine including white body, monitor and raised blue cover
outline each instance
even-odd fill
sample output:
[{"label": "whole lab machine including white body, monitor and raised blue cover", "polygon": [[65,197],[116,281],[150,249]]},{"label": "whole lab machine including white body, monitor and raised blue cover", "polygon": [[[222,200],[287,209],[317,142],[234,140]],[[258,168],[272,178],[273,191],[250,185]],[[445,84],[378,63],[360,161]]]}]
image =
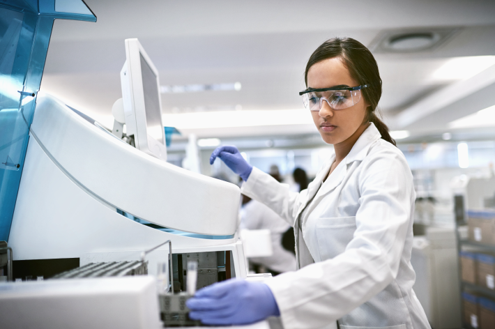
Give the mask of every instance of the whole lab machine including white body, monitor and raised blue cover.
[{"label": "whole lab machine including white body, monitor and raised blue cover", "polygon": [[[13,83],[20,71],[15,61],[19,56],[7,54],[13,59],[6,72],[10,84],[2,85],[0,99],[1,128],[6,128],[2,142],[11,139],[0,150],[5,160],[0,240],[7,240],[13,250],[10,280],[50,277],[94,262],[137,261],[143,250],[165,240],[174,246],[173,285],[178,290],[187,282],[186,259],[197,259],[198,282],[204,285],[246,277],[236,236],[239,188],[166,162],[158,70],[139,41],[124,42],[122,99],[112,109],[115,123],[109,130],[38,92],[54,19],[94,22],[96,16],[80,0],[35,2],[0,1],[0,9],[13,16],[8,21],[3,15],[10,26],[2,43],[12,43],[17,55],[32,52],[31,62],[22,67],[27,71],[20,86]],[[30,11],[33,20],[38,19],[33,27],[38,34],[22,40]],[[42,41],[44,48],[38,46]],[[33,62],[35,55],[41,58]],[[38,79],[34,82],[33,72]],[[150,255],[148,273],[155,274],[156,264],[168,254],[169,248],[163,247]]]}]

